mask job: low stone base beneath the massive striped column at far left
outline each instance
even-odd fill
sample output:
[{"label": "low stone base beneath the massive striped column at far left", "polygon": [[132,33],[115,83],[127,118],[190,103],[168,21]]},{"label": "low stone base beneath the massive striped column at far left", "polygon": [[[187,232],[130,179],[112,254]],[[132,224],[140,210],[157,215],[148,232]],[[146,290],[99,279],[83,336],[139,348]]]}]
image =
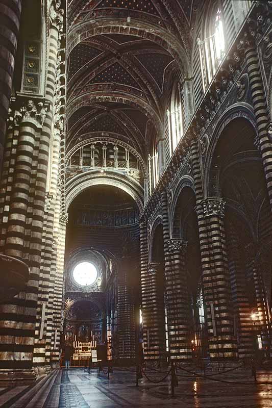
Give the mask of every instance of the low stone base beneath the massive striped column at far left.
[{"label": "low stone base beneath the massive striped column at far left", "polygon": [[0,387],[33,385],[37,380],[32,369],[0,370]]}]

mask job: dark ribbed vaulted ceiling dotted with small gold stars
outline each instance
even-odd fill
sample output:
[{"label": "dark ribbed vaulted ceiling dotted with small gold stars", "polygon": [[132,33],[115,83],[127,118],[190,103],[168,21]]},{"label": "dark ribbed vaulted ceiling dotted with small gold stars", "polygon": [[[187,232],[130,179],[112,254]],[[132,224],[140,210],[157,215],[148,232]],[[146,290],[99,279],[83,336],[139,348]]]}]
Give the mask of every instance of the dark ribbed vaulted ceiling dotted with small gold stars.
[{"label": "dark ribbed vaulted ceiling dotted with small gold stars", "polygon": [[187,76],[196,0],[70,0],[67,138],[109,136],[136,149],[163,137],[166,95]]}]

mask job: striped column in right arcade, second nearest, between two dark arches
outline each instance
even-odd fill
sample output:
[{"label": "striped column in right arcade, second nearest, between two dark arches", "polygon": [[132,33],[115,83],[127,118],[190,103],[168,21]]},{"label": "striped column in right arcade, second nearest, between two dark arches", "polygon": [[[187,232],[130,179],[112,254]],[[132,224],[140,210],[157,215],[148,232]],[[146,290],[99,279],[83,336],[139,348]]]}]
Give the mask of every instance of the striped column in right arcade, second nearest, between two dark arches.
[{"label": "striped column in right arcade, second nearest, between two dark arches", "polygon": [[185,255],[187,241],[170,239],[167,242],[169,267],[165,266],[168,341],[172,360],[192,358],[189,339],[189,295]]}]

